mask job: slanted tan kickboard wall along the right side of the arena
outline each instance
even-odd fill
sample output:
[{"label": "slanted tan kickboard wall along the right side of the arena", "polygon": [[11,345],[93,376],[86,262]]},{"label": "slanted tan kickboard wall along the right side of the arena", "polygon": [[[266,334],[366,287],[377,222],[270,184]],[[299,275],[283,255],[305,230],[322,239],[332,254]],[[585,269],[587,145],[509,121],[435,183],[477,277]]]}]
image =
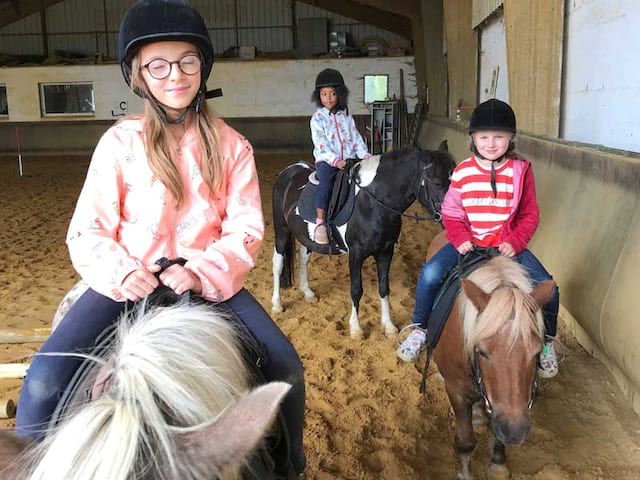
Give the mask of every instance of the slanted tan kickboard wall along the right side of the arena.
[{"label": "slanted tan kickboard wall along the right side of the arena", "polygon": [[[459,161],[466,129],[429,118],[420,143],[446,138]],[[516,143],[536,175],[542,219],[531,248],[558,282],[561,320],[640,414],[640,157],[524,134]]]}]

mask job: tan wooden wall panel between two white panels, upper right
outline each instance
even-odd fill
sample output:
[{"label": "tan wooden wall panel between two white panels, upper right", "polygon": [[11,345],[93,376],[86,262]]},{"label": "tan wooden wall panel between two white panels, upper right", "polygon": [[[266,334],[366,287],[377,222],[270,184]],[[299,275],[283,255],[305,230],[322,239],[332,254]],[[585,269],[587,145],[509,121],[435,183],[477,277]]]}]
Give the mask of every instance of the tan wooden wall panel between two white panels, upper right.
[{"label": "tan wooden wall panel between two white panels, upper right", "polygon": [[518,128],[559,136],[564,1],[505,0],[509,103]]}]

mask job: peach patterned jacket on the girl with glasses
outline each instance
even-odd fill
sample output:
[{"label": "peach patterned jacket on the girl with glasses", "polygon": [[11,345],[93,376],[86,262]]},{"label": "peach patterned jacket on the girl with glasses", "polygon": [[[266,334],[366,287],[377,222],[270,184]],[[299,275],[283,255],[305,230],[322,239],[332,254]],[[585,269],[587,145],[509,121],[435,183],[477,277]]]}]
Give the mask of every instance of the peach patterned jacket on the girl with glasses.
[{"label": "peach patterned jacket on the girl with glasses", "polygon": [[215,125],[222,188],[209,195],[189,130],[176,162],[185,188],[179,209],[151,173],[142,119],[118,122],[100,139],[67,234],[73,266],[95,291],[124,301],[125,277],[160,257],[187,259],[209,300],[226,300],[242,288],[264,238],[258,176],[247,139],[222,120]]}]

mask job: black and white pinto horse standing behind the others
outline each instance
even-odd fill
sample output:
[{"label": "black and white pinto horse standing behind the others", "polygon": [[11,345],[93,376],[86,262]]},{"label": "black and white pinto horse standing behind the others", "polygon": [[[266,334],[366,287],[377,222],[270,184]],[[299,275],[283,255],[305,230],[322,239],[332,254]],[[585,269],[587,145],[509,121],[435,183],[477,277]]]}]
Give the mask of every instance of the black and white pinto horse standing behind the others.
[{"label": "black and white pinto horse standing behind the others", "polygon": [[[439,220],[440,205],[454,166],[444,141],[435,151],[405,148],[373,156],[350,170],[357,185],[355,204],[350,219],[338,230],[349,254],[352,300],[349,328],[352,338],[362,338],[358,319],[362,297],[362,264],[370,256],[375,258],[378,270],[381,323],[385,335],[391,337],[397,333],[389,308],[389,268],[394,245],[400,235],[401,217],[409,216],[404,211],[417,199],[428,210],[429,217],[409,217],[416,220]],[[294,240],[300,243],[299,287],[308,302],[316,301],[307,279],[307,264],[311,252],[347,253],[340,251],[335,245],[315,243],[315,224],[305,222],[298,215],[298,198],[313,171],[313,167],[304,162],[290,165],[280,172],[273,187],[275,251],[271,302],[274,312],[283,311],[280,287],[288,288],[293,284]]]}]

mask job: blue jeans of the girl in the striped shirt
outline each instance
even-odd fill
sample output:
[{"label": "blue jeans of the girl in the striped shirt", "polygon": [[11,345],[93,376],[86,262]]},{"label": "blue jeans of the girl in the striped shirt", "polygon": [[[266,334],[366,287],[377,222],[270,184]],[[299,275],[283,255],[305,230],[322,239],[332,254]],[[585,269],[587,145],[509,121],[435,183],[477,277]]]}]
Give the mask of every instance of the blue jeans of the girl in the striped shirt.
[{"label": "blue jeans of the girl in the striped shirt", "polygon": [[[552,280],[551,275],[529,250],[524,250],[515,258],[527,270],[534,285],[544,280]],[[418,276],[418,283],[416,285],[416,302],[413,310],[412,323],[417,323],[422,328],[427,328],[429,316],[433,309],[433,302],[445,278],[449,272],[456,267],[457,263],[458,252],[450,243],[447,243],[433,257],[425,262]],[[560,296],[558,287],[556,286],[553,290],[553,296],[542,308],[545,334],[549,337],[556,336],[559,306]]]}]

